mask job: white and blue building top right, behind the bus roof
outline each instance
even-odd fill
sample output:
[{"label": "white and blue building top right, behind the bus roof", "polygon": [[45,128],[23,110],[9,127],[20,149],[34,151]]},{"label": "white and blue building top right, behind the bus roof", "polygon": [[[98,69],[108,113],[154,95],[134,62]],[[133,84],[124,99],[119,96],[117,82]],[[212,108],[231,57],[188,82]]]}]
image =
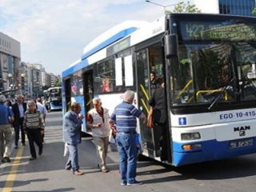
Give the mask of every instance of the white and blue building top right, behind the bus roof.
[{"label": "white and blue building top right, behind the bus roof", "polygon": [[202,13],[254,16],[255,0],[194,0]]}]

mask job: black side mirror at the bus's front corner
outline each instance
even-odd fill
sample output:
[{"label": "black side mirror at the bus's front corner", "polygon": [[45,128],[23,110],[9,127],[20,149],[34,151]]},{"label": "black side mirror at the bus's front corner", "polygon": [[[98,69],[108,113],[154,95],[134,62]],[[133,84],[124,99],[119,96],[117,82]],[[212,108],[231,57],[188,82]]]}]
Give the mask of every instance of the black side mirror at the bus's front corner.
[{"label": "black side mirror at the bus's front corner", "polygon": [[178,56],[178,37],[177,34],[166,34],[166,58],[173,58]]}]

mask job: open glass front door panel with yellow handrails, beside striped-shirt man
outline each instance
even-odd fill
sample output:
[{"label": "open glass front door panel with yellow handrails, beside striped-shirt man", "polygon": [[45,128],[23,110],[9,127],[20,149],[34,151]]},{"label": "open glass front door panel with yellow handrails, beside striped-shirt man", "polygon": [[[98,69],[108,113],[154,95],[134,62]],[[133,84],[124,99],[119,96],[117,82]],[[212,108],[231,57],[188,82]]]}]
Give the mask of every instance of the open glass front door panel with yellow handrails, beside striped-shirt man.
[{"label": "open glass front door panel with yellow handrails, beside striped-shirt man", "polygon": [[[146,114],[146,116],[148,115],[148,112],[150,110],[150,107],[148,105],[148,101],[150,98],[150,72],[147,53],[147,49],[140,50],[136,53],[138,108],[142,110],[142,112]],[[150,158],[154,158],[155,151],[153,129],[147,128],[146,124],[142,122],[142,119],[140,119],[139,121],[143,154],[149,156]]]}]

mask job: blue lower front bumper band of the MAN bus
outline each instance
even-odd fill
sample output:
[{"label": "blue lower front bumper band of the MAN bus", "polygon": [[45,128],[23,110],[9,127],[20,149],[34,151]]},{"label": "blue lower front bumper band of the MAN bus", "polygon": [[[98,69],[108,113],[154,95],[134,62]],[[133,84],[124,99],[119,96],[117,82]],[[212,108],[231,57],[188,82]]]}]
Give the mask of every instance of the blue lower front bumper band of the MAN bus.
[{"label": "blue lower front bumper band of the MAN bus", "polygon": [[[243,154],[252,154],[256,152],[256,138],[253,146],[246,146],[230,150],[229,141],[218,142],[210,140],[206,142],[194,142],[202,145],[201,150],[182,150],[185,143],[173,142],[173,165],[183,166],[186,164],[214,161],[223,158],[233,158]],[[191,144],[191,143],[188,143]]]}]

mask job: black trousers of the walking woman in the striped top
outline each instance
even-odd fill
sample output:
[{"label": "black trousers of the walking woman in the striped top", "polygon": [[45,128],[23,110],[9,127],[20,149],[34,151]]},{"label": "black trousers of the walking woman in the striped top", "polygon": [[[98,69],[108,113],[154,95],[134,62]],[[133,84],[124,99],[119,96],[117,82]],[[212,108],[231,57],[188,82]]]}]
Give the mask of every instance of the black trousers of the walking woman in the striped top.
[{"label": "black trousers of the walking woman in the striped top", "polygon": [[26,134],[30,143],[30,154],[33,158],[37,158],[37,154],[34,148],[34,142],[38,145],[38,150],[42,151],[42,136],[40,133],[40,129],[27,129]]}]

